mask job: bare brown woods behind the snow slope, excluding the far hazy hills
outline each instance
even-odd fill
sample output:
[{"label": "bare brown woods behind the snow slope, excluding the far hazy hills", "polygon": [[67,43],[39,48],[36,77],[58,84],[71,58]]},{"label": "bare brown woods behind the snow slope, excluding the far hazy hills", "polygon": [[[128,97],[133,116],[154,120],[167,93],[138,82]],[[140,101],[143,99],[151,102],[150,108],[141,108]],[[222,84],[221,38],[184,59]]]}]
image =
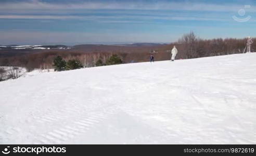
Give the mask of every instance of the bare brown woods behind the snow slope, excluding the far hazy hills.
[{"label": "bare brown woods behind the snow slope, excluding the far hazy hills", "polygon": [[[256,40],[253,38],[254,44],[252,50],[256,49]],[[35,68],[50,69],[54,68],[54,59],[60,56],[66,61],[65,70],[76,68],[75,62],[79,62],[78,67],[95,67],[105,66],[112,64],[110,59],[113,55],[121,59],[121,63],[131,62],[145,62],[149,61],[150,50],[157,50],[155,54],[155,60],[169,60],[171,57],[170,51],[173,45],[176,45],[178,49],[177,59],[190,59],[198,57],[219,56],[228,54],[243,53],[246,46],[246,38],[214,38],[214,39],[202,39],[198,37],[194,32],[184,34],[177,42],[159,45],[159,46],[145,46],[145,47],[115,47],[111,51],[111,46],[107,51],[96,52],[84,52],[81,50],[75,51],[61,51],[53,50],[41,53],[30,53],[25,55],[17,55],[12,57],[1,57],[0,66],[12,66],[12,67],[24,67],[27,71],[31,71]],[[97,50],[96,50],[97,51]],[[69,61],[72,60],[72,61]],[[119,62],[120,63],[120,62]],[[76,66],[77,64],[75,64]]]}]

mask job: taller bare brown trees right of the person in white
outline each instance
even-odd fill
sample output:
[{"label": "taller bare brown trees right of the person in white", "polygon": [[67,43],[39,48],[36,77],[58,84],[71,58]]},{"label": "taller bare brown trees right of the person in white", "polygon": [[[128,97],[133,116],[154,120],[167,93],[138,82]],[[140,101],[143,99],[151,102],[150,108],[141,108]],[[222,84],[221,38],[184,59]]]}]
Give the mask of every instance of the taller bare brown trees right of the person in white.
[{"label": "taller bare brown trees right of the person in white", "polygon": [[[255,39],[253,38],[254,43],[256,42]],[[214,38],[204,40],[194,32],[190,32],[184,34],[173,44],[176,44],[179,49],[178,58],[190,59],[244,53],[246,43],[247,38]],[[252,45],[252,49],[256,49],[255,44]]]}]

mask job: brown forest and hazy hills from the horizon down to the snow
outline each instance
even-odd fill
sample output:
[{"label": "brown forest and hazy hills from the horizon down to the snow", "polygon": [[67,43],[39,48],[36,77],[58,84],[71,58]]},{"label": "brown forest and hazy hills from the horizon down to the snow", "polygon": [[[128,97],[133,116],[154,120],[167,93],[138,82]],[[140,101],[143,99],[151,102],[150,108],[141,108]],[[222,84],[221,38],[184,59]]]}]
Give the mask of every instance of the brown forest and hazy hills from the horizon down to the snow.
[{"label": "brown forest and hazy hills from the horizon down to the snow", "polygon": [[[252,51],[256,49],[253,38]],[[152,44],[141,46],[129,45],[78,45],[71,49],[12,49],[0,50],[0,66],[25,67],[28,71],[35,68],[53,68],[53,60],[61,56],[65,60],[79,59],[84,67],[94,67],[100,59],[104,63],[113,54],[117,54],[124,63],[149,61],[149,51],[155,50],[155,60],[170,60],[170,50],[175,45],[178,49],[176,59],[190,59],[243,53],[247,39],[215,38],[204,40],[193,32],[184,34],[177,42],[171,44]]]}]

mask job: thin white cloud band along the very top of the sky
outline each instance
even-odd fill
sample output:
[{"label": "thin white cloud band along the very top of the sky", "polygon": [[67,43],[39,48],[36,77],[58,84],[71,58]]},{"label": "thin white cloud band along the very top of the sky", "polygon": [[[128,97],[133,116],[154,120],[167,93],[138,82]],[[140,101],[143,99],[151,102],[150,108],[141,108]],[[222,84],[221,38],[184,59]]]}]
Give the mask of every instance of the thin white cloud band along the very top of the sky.
[{"label": "thin white cloud band along the very top of the sky", "polygon": [[[248,4],[245,4],[248,5]],[[238,11],[241,5],[207,4],[207,3],[174,3],[174,2],[85,2],[74,4],[53,4],[40,1],[3,3],[0,9],[137,9],[137,10],[197,10],[197,11]],[[255,7],[247,11],[255,11]]]}]

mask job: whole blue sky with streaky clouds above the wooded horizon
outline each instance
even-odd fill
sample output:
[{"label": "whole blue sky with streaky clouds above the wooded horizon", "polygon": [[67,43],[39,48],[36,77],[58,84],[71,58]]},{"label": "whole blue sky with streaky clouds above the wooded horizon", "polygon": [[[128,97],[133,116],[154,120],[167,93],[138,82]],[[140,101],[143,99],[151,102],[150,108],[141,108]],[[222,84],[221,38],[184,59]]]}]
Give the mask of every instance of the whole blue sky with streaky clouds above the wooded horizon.
[{"label": "whole blue sky with streaky clouds above the wooded horizon", "polygon": [[[256,35],[255,5],[253,0],[0,0],[0,45],[170,43],[190,31],[201,38],[243,38]],[[233,16],[250,19],[238,22]]]}]

